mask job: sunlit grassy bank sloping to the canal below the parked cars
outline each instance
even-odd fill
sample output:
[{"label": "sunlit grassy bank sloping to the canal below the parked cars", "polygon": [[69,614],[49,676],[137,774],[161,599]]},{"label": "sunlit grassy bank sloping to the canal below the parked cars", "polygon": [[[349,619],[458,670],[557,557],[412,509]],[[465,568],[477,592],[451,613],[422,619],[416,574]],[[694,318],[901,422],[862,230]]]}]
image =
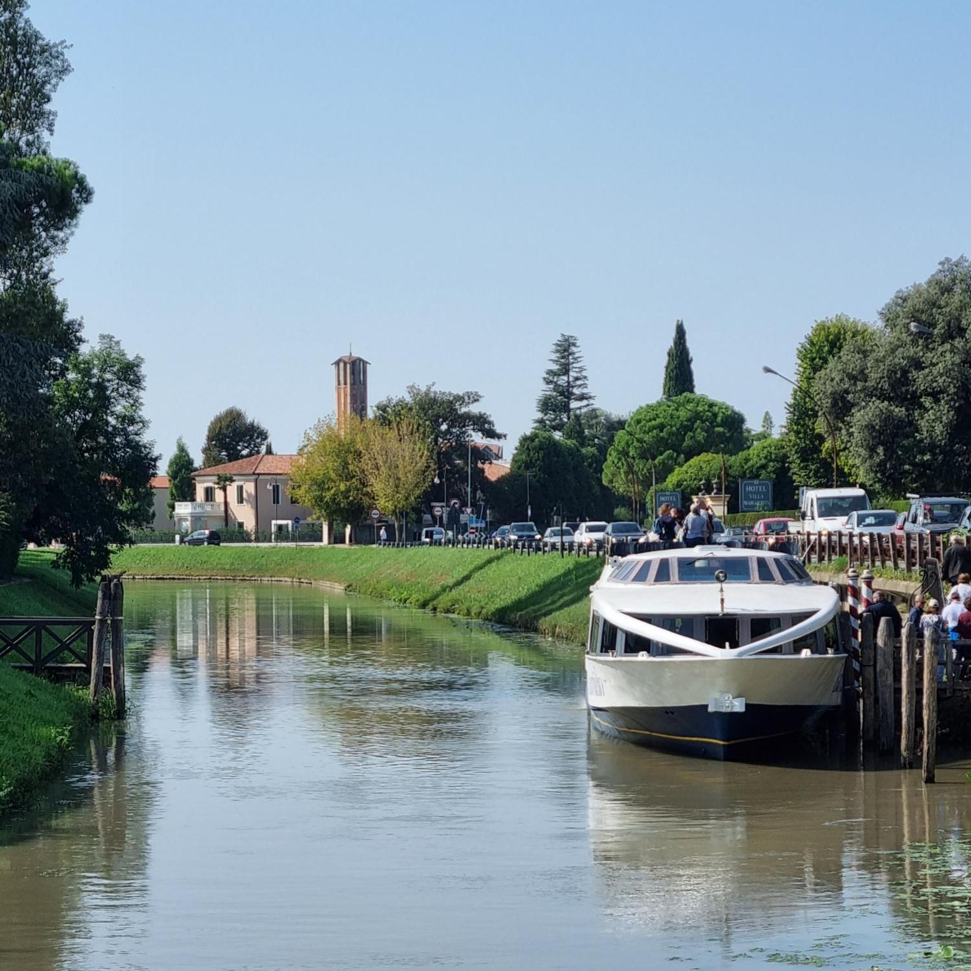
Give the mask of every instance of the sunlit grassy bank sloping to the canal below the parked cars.
[{"label": "sunlit grassy bank sloping to the canal below the parked cars", "polygon": [[494,550],[374,547],[130,547],[112,564],[135,576],[281,577],[462,617],[586,641],[587,594],[603,560]]}]

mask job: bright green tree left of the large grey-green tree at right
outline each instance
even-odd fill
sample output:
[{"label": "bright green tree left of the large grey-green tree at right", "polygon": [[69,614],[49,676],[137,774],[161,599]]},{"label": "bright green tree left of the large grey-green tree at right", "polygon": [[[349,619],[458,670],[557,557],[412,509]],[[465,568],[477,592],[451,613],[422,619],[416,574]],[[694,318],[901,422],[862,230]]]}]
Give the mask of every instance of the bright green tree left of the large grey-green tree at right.
[{"label": "bright green tree left of the large grey-green tree at right", "polygon": [[[820,487],[833,484],[831,426],[836,432],[837,450],[844,434],[842,423],[832,409],[823,407],[817,393],[820,371],[843,348],[856,340],[866,340],[870,328],[862,320],[837,314],[817,320],[796,350],[795,386],[786,408],[786,441],[792,475],[799,485]],[[849,470],[841,466],[843,479]]]}]

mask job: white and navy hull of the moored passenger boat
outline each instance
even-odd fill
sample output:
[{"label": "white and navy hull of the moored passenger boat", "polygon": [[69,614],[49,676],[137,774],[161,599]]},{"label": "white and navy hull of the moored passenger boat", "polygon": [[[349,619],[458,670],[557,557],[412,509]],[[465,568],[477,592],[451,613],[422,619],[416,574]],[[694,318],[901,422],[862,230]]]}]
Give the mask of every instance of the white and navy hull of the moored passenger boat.
[{"label": "white and navy hull of the moored passenger boat", "polygon": [[[745,758],[837,708],[845,663],[843,654],[587,655],[586,701],[592,724],[608,735],[669,752]],[[735,699],[733,710],[718,710],[723,698]]]}]

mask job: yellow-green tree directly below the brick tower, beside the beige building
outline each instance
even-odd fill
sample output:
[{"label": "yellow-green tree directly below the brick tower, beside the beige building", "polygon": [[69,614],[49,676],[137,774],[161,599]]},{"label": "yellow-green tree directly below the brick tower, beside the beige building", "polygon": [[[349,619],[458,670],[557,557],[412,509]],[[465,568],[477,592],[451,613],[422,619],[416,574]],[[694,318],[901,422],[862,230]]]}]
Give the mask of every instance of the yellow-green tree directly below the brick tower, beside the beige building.
[{"label": "yellow-green tree directly below the brick tower, beside the beige building", "polygon": [[363,442],[360,419],[349,418],[343,434],[334,419],[318,421],[290,468],[290,494],[324,522],[359,522],[373,505]]}]

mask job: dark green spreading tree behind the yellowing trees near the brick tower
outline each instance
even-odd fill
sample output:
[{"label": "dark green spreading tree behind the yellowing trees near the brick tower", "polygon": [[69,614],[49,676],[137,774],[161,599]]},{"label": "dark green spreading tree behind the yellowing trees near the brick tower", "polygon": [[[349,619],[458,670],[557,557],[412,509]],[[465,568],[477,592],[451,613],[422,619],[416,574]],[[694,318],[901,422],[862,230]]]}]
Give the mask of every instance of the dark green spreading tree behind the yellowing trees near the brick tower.
[{"label": "dark green spreading tree behind the yellowing trees near the brick tower", "polygon": [[[424,430],[436,470],[444,473],[452,496],[465,492],[469,481],[469,457],[472,459],[472,495],[468,505],[475,505],[475,497],[487,492],[489,484],[482,471],[488,457],[475,445],[477,440],[499,441],[506,436],[496,430],[490,415],[478,411],[482,401],[478,391],[440,391],[435,385],[408,385],[403,397],[389,397],[374,406],[373,420],[393,424],[401,419],[414,419]],[[469,443],[472,448],[469,449]],[[425,492],[425,505],[440,501],[441,493]]]}]

